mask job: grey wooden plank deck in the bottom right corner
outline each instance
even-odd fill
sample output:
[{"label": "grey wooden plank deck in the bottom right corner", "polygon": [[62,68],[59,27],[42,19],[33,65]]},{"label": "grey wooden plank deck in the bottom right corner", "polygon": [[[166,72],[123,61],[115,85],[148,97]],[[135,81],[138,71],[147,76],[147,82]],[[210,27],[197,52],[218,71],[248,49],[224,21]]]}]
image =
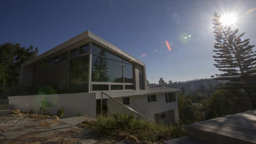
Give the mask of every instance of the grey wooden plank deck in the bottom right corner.
[{"label": "grey wooden plank deck in the bottom right corner", "polygon": [[[185,128],[190,139],[202,140],[206,143],[256,144],[256,110],[185,125]],[[175,144],[199,144],[189,139],[172,141],[176,142]],[[168,141],[165,143],[174,144]]]}]

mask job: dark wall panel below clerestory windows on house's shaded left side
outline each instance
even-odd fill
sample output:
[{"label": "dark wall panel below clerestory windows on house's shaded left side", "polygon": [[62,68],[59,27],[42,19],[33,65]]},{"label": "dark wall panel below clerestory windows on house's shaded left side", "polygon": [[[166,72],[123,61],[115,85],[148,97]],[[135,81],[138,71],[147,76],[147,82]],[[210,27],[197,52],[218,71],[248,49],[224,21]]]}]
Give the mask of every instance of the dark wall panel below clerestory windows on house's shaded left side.
[{"label": "dark wall panel below clerestory windows on house's shaded left side", "polygon": [[59,89],[67,89],[67,84],[68,60],[35,69],[33,85],[37,88],[47,85]]}]

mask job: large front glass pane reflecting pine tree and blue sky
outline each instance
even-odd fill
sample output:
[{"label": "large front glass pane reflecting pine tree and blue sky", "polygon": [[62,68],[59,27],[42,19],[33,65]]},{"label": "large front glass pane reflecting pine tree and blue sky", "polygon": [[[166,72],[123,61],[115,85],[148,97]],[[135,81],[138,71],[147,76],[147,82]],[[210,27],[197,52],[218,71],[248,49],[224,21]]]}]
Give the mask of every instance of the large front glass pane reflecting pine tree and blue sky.
[{"label": "large front glass pane reflecting pine tree and blue sky", "polygon": [[92,82],[123,83],[122,62],[92,55]]}]

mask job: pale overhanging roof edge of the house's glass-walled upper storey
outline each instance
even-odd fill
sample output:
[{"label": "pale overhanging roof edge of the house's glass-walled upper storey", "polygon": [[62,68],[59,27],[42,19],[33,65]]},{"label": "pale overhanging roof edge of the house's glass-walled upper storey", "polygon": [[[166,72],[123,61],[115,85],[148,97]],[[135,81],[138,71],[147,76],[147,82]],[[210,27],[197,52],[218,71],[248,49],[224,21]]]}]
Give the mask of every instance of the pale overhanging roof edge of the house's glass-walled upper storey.
[{"label": "pale overhanging roof edge of the house's glass-walled upper storey", "polygon": [[35,57],[35,58],[31,59],[31,60],[28,60],[27,62],[23,63],[21,67],[24,67],[24,66],[27,66],[29,64],[32,64],[32,63],[36,62],[37,60],[43,59],[44,57],[47,57],[47,56],[49,56],[52,53],[58,52],[58,51],[60,51],[60,50],[62,50],[64,48],[66,48],[66,47],[68,47],[68,46],[70,46],[72,44],[75,44],[77,42],[80,42],[80,41],[82,41],[82,40],[84,40],[86,38],[91,38],[92,40],[94,40],[94,41],[96,41],[96,42],[106,46],[110,51],[117,52],[120,55],[122,55],[123,57],[131,59],[134,62],[136,62],[136,63],[138,63],[138,64],[140,64],[142,66],[146,65],[145,63],[143,63],[142,61],[134,58],[133,56],[131,56],[127,52],[124,52],[123,50],[121,50],[120,48],[116,47],[115,45],[107,42],[106,40],[102,39],[101,37],[99,37],[99,36],[97,36],[97,35],[95,35],[92,32],[87,30],[87,31],[85,31],[85,32],[83,32],[83,33],[81,33],[81,34],[79,34],[79,35],[77,35],[77,36],[67,40],[66,42],[64,42],[64,43],[62,43],[62,44],[60,44],[60,45],[58,45],[58,46],[56,46],[56,47],[54,47],[54,48],[44,52],[42,54],[40,54],[39,56],[37,56],[37,57]]}]

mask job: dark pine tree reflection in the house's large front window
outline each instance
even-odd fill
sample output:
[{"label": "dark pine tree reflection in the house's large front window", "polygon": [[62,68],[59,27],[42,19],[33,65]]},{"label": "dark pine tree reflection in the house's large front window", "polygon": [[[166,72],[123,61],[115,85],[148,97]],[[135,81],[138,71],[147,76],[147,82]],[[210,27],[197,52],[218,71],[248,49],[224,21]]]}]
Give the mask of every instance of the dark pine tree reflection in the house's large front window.
[{"label": "dark pine tree reflection in the house's large front window", "polygon": [[99,55],[103,56],[97,56],[95,62],[92,64],[94,66],[92,69],[92,78],[93,80],[97,82],[108,82],[108,68],[107,68],[107,59],[106,57],[106,51],[100,50]]}]

